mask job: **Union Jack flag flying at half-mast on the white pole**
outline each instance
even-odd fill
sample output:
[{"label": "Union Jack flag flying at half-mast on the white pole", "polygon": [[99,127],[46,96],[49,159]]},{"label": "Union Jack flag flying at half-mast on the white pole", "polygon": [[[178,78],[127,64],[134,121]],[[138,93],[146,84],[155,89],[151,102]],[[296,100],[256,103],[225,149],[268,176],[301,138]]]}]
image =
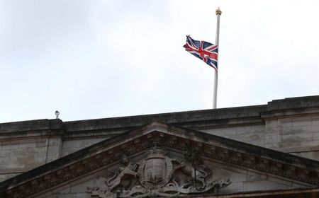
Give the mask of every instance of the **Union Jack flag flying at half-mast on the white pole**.
[{"label": "Union Jack flag flying at half-mast on the white pole", "polygon": [[189,35],[186,36],[186,44],[183,46],[185,50],[198,59],[203,60],[209,66],[217,71],[218,63],[218,45],[213,45],[210,42],[199,41],[192,39]]}]

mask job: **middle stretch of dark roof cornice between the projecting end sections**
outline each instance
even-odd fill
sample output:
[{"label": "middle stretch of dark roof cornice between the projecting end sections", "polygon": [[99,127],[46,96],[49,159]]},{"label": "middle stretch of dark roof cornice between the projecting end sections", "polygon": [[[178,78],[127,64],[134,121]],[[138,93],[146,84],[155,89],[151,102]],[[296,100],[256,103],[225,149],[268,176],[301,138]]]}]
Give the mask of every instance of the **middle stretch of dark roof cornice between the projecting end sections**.
[{"label": "middle stretch of dark roof cornice between the projecting end sections", "polygon": [[[96,120],[79,120],[65,122],[67,132],[92,131],[101,129],[132,129],[149,122],[164,122],[167,124],[201,124],[215,121],[220,124],[229,124],[231,120],[242,120],[249,117],[259,117],[259,112],[264,111],[267,105],[232,107],[216,110],[196,110],[189,112],[172,112],[154,115],[137,115],[129,117],[113,117]],[[259,120],[262,122],[262,120]]]}]

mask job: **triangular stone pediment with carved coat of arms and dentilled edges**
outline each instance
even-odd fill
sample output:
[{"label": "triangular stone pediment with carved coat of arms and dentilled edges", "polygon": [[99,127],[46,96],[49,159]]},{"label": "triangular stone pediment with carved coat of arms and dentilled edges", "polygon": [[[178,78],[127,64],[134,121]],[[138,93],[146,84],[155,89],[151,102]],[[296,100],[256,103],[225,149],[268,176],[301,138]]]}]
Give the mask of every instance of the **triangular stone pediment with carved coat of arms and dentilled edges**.
[{"label": "triangular stone pediment with carved coat of arms and dentilled edges", "polygon": [[54,197],[79,181],[83,197],[289,190],[318,186],[318,173],[318,161],[152,122],[1,182],[0,197]]}]

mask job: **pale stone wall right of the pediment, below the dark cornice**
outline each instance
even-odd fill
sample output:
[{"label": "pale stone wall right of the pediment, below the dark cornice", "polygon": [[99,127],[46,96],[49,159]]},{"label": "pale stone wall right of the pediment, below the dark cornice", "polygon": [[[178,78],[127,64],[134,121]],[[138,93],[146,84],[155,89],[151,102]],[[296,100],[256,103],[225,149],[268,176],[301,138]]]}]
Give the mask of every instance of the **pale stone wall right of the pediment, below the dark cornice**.
[{"label": "pale stone wall right of the pediment, below the dark cornice", "polygon": [[300,116],[267,120],[264,125],[204,129],[224,136],[284,153],[319,160],[319,116]]}]

